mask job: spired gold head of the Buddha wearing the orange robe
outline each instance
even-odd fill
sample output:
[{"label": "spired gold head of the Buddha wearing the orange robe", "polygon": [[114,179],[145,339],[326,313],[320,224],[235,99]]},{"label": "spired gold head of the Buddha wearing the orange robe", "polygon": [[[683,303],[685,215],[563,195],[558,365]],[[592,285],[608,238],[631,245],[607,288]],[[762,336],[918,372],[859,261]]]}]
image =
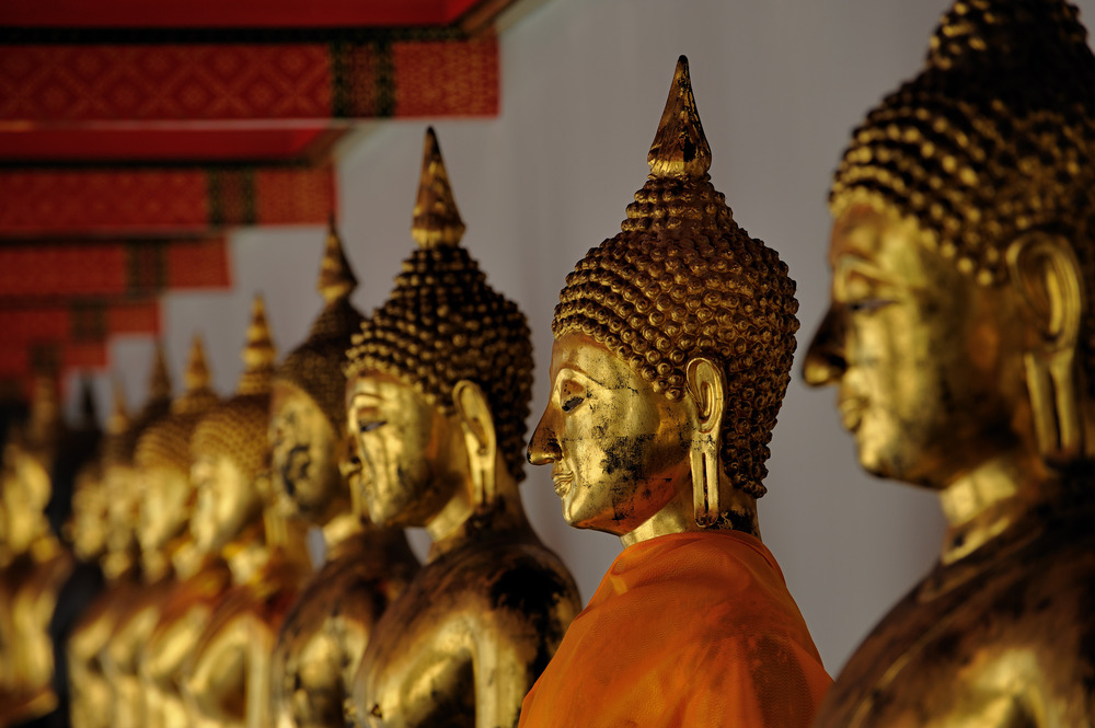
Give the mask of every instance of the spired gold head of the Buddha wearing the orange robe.
[{"label": "spired gold head of the Buddha wearing the orange robe", "polygon": [[560,293],[529,461],[552,466],[577,528],[625,536],[654,519],[661,531],[756,532],[795,350],[795,284],[711,184],[683,56],[648,162],[621,232]]}]

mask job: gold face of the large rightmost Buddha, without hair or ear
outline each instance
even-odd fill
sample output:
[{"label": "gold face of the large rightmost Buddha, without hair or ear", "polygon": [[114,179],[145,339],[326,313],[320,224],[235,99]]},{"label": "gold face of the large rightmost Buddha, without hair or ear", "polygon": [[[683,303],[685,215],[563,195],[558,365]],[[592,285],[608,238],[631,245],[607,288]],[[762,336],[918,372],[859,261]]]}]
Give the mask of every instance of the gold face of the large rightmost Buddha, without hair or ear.
[{"label": "gold face of the large rightmost Buddha, without hair or ear", "polygon": [[832,305],[805,375],[839,386],[864,469],[942,488],[1015,441],[1023,345],[1007,289],[977,285],[923,240],[871,206],[837,220]]}]

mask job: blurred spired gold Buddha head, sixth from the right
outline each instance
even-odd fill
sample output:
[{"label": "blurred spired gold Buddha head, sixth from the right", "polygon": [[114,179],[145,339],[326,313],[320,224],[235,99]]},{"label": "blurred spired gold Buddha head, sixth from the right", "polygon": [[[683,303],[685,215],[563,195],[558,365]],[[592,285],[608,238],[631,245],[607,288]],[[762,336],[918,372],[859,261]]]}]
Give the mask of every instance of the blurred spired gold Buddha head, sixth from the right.
[{"label": "blurred spired gold Buddha head, sixth from the right", "polygon": [[185,384],[185,391],[171,403],[171,413],[137,440],[134,461],[143,483],[137,535],[146,558],[154,558],[185,536],[194,512],[191,438],[200,417],[217,404],[198,337],[191,347]]}]

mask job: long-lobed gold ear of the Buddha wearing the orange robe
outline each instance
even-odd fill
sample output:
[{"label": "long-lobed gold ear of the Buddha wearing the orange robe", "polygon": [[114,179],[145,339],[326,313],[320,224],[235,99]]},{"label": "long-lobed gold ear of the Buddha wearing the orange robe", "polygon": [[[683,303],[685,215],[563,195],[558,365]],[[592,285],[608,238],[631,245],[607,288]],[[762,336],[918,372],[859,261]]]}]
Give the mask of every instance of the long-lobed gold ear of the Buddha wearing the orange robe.
[{"label": "long-lobed gold ear of the Buddha wearing the orange robe", "polygon": [[692,505],[698,525],[718,522],[721,513],[718,481],[722,463],[718,451],[723,440],[723,412],[726,380],[723,370],[706,357],[696,357],[684,368],[684,385],[695,405],[695,421],[689,460],[692,464]]}]

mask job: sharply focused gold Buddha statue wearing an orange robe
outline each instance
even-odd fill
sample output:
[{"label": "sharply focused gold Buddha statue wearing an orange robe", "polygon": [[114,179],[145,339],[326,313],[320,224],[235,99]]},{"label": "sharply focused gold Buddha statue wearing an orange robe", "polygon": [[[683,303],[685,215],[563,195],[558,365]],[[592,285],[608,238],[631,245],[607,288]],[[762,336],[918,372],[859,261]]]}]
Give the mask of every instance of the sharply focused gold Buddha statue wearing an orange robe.
[{"label": "sharply focused gold Buddha statue wearing an orange robe", "polygon": [[566,278],[529,461],[563,518],[625,546],[522,726],[807,726],[830,680],[756,500],[789,379],[795,284],[707,175],[682,56],[622,232]]}]

